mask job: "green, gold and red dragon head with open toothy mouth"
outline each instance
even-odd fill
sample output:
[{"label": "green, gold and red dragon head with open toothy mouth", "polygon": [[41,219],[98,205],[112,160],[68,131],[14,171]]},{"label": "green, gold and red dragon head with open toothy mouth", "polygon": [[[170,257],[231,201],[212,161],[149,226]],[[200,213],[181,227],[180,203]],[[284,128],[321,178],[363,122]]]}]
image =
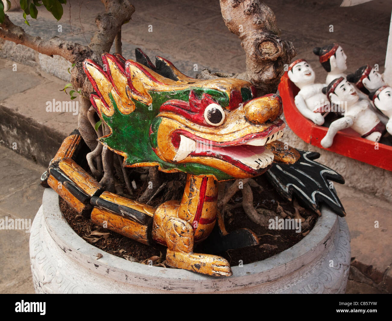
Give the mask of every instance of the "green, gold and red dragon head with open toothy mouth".
[{"label": "green, gold and red dragon head with open toothy mouth", "polygon": [[124,156],[124,166],[158,165],[163,172],[213,175],[217,180],[265,172],[274,155],[268,144],[283,135],[281,98],[256,98],[251,83],[235,78],[198,80],[171,62],[156,63],[136,49],[136,62],[103,54],[83,69],[90,99],[110,129],[100,138]]}]

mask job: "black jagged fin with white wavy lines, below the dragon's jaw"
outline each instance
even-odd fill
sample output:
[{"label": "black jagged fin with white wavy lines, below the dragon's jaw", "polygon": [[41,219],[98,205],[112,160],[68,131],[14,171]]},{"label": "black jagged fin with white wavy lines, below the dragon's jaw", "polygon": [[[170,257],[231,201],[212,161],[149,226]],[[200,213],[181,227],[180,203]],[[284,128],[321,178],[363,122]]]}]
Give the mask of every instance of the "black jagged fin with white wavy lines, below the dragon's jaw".
[{"label": "black jagged fin with white wavy lines, below the dragon's jaw", "polygon": [[267,178],[279,194],[289,201],[295,195],[303,205],[318,214],[321,203],[327,204],[339,216],[346,212],[330,181],[343,184],[344,178],[333,169],[314,161],[318,152],[297,149],[301,158],[294,164],[273,163],[267,170]]}]

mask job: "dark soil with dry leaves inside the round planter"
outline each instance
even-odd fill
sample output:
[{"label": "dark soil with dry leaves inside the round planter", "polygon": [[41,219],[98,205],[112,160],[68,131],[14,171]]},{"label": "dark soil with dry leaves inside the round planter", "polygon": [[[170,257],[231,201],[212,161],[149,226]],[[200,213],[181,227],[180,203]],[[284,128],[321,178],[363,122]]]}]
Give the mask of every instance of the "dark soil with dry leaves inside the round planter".
[{"label": "dark soil with dry leaves inside the round planter", "polygon": [[[172,176],[170,176],[172,175]],[[175,175],[175,176],[174,176]],[[167,177],[166,177],[167,176]],[[178,184],[183,190],[185,176],[181,176],[178,174],[165,174],[165,178],[174,181],[178,180]],[[260,184],[263,189],[261,190],[259,187],[252,187],[253,196],[254,196],[254,207],[255,209],[268,209],[273,210],[274,212],[278,212],[276,216],[282,218],[279,215],[279,210],[277,210],[278,203],[287,213],[294,214],[295,208],[292,202],[287,202],[283,198],[279,196],[279,194],[273,189],[272,185],[267,181],[265,176],[259,176],[255,178],[255,181]],[[137,182],[138,189],[134,192],[135,198],[137,195],[140,195],[145,189],[146,185],[142,181]],[[165,199],[166,191],[162,191],[160,194],[156,196],[154,201],[151,202],[152,206],[158,206]],[[171,194],[171,198],[180,199],[180,193]],[[177,198],[174,197],[177,195]],[[229,201],[228,205],[234,205],[236,203],[241,203],[242,194],[241,191],[237,192],[232,199]],[[294,229],[290,230],[275,230],[269,229],[268,226],[260,226],[256,223],[253,223],[244,212],[242,206],[231,209],[225,213],[225,225],[228,232],[234,231],[236,229],[248,228],[252,230],[259,238],[259,245],[254,245],[252,247],[241,248],[238,250],[228,250],[223,253],[214,253],[226,258],[231,266],[238,265],[239,263],[248,264],[256,261],[261,261],[263,259],[269,258],[279,252],[286,250],[287,248],[292,247],[294,244],[298,243],[301,239],[303,239],[311,230],[316,223],[318,218],[317,214],[313,212],[298,207],[299,214],[306,219],[305,223],[302,224],[302,229],[300,233],[296,233]],[[89,219],[85,219],[82,216],[78,215],[73,209],[69,207],[69,205],[60,198],[60,209],[64,214],[65,219],[72,227],[72,229],[82,238],[85,238],[86,241],[92,243],[94,246],[110,253],[115,256],[119,256],[121,258],[129,259],[132,261],[138,261],[140,263],[147,264],[148,260],[151,259],[154,265],[165,265],[165,254],[166,248],[161,245],[156,245],[154,247],[144,245],[142,243],[138,243],[133,241],[132,239],[126,238],[120,234],[112,232],[107,229],[103,229],[100,226],[94,225],[91,223]],[[275,219],[274,216],[269,217]],[[287,216],[290,218],[290,216]],[[94,235],[96,232],[106,232],[110,234],[106,234],[103,236]],[[93,235],[91,234],[93,232]],[[196,245],[194,248],[194,252],[198,252],[198,250],[203,252],[203,244]],[[167,266],[166,266],[167,267]]]}]

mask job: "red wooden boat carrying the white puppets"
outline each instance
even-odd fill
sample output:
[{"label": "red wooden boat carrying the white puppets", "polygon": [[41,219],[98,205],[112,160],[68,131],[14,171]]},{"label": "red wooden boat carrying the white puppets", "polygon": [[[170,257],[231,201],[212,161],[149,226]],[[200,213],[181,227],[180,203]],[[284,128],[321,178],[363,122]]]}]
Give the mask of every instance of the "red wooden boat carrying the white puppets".
[{"label": "red wooden boat carrying the white puppets", "polygon": [[[316,147],[325,149],[320,142],[327,134],[328,127],[316,125],[298,111],[294,102],[294,97],[298,94],[298,91],[299,88],[291,82],[286,72],[279,84],[279,95],[283,100],[286,123],[299,138]],[[376,145],[374,141],[361,138],[357,132],[348,128],[336,134],[334,143],[330,148],[327,148],[327,151],[392,171],[390,136],[382,138],[381,141]],[[388,145],[385,143],[388,143]]]}]

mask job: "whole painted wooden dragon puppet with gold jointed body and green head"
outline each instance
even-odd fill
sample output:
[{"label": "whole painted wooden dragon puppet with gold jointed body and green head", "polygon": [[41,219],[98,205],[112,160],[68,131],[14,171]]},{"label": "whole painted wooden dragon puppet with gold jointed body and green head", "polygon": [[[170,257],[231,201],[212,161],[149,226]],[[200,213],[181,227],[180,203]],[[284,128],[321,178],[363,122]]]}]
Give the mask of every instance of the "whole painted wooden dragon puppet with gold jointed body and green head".
[{"label": "whole painted wooden dragon puppet with gold jointed body and green head", "polygon": [[45,177],[49,186],[79,212],[87,212],[94,223],[106,222],[108,229],[145,244],[165,245],[172,267],[230,276],[226,259],[193,253],[194,244],[213,230],[218,231],[218,237],[215,232],[211,235],[215,235],[215,253],[258,244],[248,229],[226,232],[217,211],[218,181],[267,172],[286,199],[295,194],[318,212],[322,201],[345,215],[336,192],[328,186],[328,180],[343,183],[343,178],[313,161],[317,153],[278,141],[285,127],[278,95],[257,97],[251,83],[235,78],[190,78],[164,58],[157,56],[154,65],[140,49],[136,49],[136,61],[120,54],[103,54],[102,61],[103,67],[92,60],[83,62],[95,91],[91,103],[110,129],[100,143],[122,155],[125,167],[158,165],[163,172],[187,173],[187,182],[181,201],[167,201],[156,208],[103,191],[74,162],[78,134],[73,133]]}]

